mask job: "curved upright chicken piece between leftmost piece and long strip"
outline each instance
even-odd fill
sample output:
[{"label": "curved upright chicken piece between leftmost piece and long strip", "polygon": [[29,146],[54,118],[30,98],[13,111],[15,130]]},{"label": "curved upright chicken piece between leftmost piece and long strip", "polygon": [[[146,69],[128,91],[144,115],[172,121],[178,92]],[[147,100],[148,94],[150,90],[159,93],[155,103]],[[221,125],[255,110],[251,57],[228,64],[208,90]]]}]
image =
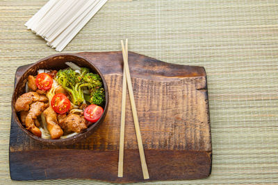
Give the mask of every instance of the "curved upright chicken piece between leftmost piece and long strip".
[{"label": "curved upright chicken piece between leftmost piece and long strip", "polygon": [[28,115],[26,116],[26,129],[31,131],[35,136],[42,136],[42,132],[40,132],[40,129],[35,126],[35,119],[37,118],[37,116],[42,114],[46,107],[47,104],[44,104],[40,101],[32,103]]}]

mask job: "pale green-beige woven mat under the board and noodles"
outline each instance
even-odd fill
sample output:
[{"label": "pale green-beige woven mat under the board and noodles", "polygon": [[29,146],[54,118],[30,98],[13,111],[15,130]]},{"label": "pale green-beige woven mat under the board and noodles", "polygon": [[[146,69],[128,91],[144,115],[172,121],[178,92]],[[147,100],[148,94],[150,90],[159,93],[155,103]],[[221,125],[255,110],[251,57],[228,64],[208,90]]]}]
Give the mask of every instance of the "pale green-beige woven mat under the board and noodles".
[{"label": "pale green-beige woven mat under the board and noodles", "polygon": [[[47,0],[0,1],[0,184],[103,184],[91,180],[12,182],[8,167],[10,98],[18,66],[57,53],[24,23]],[[278,182],[278,1],[112,0],[63,53],[129,51],[206,68],[213,169],[194,181]]]}]

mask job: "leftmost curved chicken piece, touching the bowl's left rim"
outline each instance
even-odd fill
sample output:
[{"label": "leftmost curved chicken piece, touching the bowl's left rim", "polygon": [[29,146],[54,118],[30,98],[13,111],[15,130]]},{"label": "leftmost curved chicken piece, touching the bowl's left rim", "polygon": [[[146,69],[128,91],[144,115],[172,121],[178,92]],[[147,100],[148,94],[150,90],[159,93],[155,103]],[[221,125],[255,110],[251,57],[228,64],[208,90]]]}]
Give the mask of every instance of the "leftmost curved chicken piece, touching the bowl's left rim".
[{"label": "leftmost curved chicken piece, touching the bowl's left rim", "polygon": [[19,98],[17,98],[17,101],[15,102],[15,111],[28,111],[31,103],[34,103],[36,101],[47,102],[48,98],[47,96],[40,95],[36,92],[28,92],[26,94],[22,94],[22,96],[19,96]]}]

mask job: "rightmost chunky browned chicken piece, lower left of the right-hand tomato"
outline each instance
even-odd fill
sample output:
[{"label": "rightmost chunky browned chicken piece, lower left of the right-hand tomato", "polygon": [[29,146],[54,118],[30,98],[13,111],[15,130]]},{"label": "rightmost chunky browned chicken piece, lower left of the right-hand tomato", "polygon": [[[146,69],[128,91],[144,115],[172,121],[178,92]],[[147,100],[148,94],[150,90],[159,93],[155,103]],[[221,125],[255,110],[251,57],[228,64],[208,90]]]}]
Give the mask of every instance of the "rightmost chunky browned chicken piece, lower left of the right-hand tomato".
[{"label": "rightmost chunky browned chicken piece, lower left of the right-hand tomato", "polygon": [[87,128],[85,118],[77,114],[69,114],[67,116],[58,116],[60,127],[67,133],[69,132],[82,132]]}]

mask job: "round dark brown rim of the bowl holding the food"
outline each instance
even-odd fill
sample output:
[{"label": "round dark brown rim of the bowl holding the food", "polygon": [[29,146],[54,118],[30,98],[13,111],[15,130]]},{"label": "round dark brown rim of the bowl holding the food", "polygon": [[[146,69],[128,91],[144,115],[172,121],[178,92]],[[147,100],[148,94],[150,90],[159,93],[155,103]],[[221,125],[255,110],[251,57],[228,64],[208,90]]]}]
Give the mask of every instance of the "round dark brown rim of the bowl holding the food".
[{"label": "round dark brown rim of the bowl holding the food", "polygon": [[[97,71],[97,73],[101,77],[101,80],[104,85],[105,100],[106,100],[105,105],[104,105],[104,113],[101,115],[101,117],[99,118],[99,120],[96,123],[90,125],[90,127],[88,127],[84,132],[81,132],[74,136],[70,136],[69,138],[65,138],[65,139],[42,139],[41,137],[35,136],[33,133],[26,130],[24,125],[22,125],[21,121],[19,120],[19,118],[17,116],[17,112],[15,112],[15,103],[14,103],[15,102],[15,89],[17,89],[20,79],[24,76],[24,74],[29,69],[31,69],[35,65],[39,64],[40,62],[49,60],[50,58],[55,58],[55,57],[65,56],[65,55],[67,55],[67,56],[70,55],[75,58],[81,58],[81,60],[88,62],[89,65],[91,65],[93,68],[95,68],[95,71]],[[100,125],[100,123],[102,123],[104,121],[104,118],[105,118],[107,110],[108,110],[108,104],[109,104],[109,93],[108,93],[108,86],[107,86],[106,80],[104,78],[104,75],[101,73],[101,71],[99,71],[99,69],[95,66],[95,64],[90,62],[90,60],[88,60],[87,58],[84,58],[81,55],[75,54],[75,53],[58,53],[58,54],[54,54],[54,55],[49,55],[48,57],[42,58],[42,59],[38,60],[38,62],[35,62],[35,63],[31,64],[30,66],[28,66],[26,69],[24,69],[24,72],[22,72],[22,74],[20,74],[20,76],[17,77],[17,81],[15,82],[12,101],[11,101],[13,119],[17,123],[17,125],[21,128],[21,130],[23,130],[31,139],[34,139],[35,141],[39,141],[40,143],[43,143],[45,145],[52,145],[52,146],[69,146],[69,145],[72,145],[72,144],[90,136],[90,134],[93,133],[93,130],[95,130]]]}]

